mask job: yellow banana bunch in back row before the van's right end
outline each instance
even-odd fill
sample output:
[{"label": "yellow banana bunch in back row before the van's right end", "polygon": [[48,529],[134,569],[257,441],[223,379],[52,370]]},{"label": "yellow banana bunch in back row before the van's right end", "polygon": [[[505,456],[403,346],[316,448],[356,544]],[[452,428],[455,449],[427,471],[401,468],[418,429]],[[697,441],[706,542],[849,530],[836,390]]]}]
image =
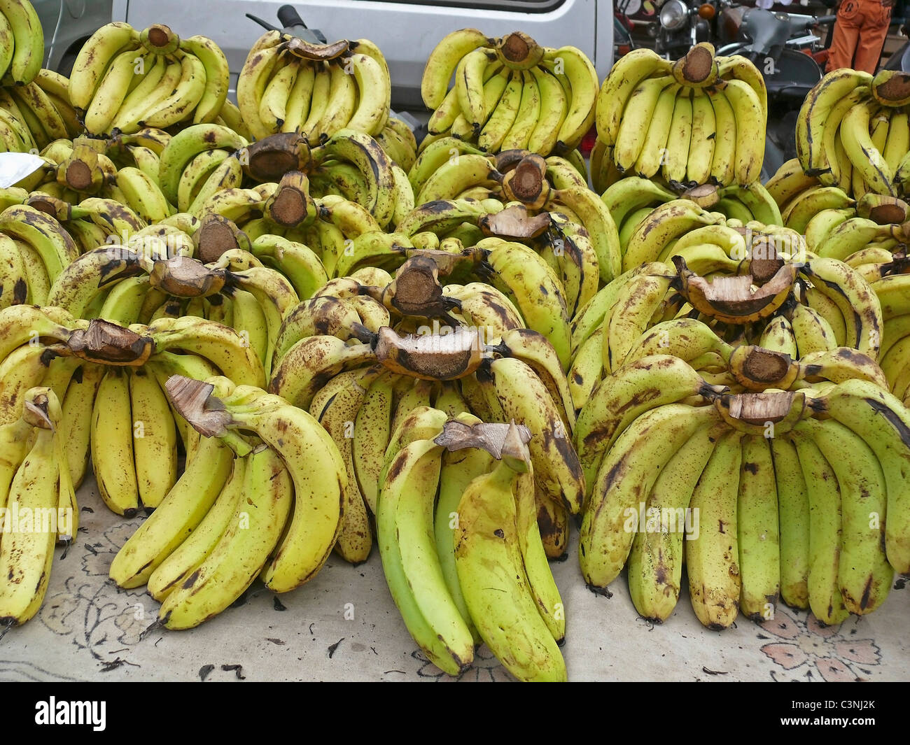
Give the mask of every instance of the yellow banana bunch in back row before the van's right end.
[{"label": "yellow banana bunch in back row before the van's right end", "polygon": [[476,28],[444,36],[420,82],[433,111],[430,136],[448,134],[488,153],[541,156],[579,146],[594,123],[597,88],[597,71],[577,47],[541,46],[521,31],[490,38]]}]

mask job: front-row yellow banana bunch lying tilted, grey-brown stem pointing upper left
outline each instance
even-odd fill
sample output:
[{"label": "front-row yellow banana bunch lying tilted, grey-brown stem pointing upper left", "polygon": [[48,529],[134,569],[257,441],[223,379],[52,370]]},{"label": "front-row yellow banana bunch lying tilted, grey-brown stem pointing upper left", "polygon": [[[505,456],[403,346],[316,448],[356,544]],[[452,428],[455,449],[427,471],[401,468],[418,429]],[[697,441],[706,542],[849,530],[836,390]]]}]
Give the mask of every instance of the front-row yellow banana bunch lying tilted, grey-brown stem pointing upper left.
[{"label": "front-row yellow banana bunch lying tilted, grey-brown stem pointing upper left", "polygon": [[202,437],[110,566],[118,586],[148,586],[167,629],[217,615],[257,577],[275,592],[312,579],[343,508],[344,467],[314,418],[258,386],[208,381],[168,375],[169,400]]}]

